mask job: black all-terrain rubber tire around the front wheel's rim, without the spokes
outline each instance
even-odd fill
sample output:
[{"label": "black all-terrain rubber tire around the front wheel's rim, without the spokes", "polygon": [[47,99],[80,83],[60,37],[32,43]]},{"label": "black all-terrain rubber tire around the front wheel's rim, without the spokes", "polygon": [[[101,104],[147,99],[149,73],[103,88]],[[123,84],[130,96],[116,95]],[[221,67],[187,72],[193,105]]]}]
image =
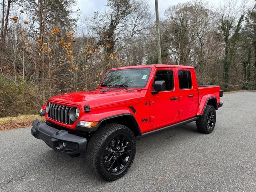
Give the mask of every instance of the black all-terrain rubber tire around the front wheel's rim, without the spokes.
[{"label": "black all-terrain rubber tire around the front wheel's rim, without the spokes", "polygon": [[[126,160],[126,165],[123,166],[120,170],[120,166],[118,163],[117,166],[119,166],[120,171],[113,173],[109,171],[104,164],[106,161],[104,154],[108,152],[108,150],[106,149],[109,147],[109,143],[113,142],[113,140],[115,140],[115,138],[118,136],[121,136],[121,137],[123,136],[123,138],[126,137],[126,140],[129,140],[128,143],[130,143],[129,144],[130,156],[128,160]],[[110,150],[114,151],[112,150],[111,147],[110,147]],[[90,166],[90,169],[92,170],[92,172],[94,172],[94,174],[98,175],[103,180],[112,181],[124,176],[126,172],[128,172],[134,160],[135,152],[136,152],[135,136],[128,127],[121,124],[106,124],[101,128],[99,128],[99,130],[97,130],[97,132],[90,139],[86,156],[88,160],[88,165]],[[119,153],[119,156],[121,157],[120,153]]]}]

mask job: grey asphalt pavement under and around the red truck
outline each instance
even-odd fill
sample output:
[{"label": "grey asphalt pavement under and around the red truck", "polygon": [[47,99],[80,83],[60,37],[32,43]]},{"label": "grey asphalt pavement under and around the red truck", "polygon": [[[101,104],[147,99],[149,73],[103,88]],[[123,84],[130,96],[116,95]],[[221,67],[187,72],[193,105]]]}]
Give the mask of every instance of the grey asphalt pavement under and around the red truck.
[{"label": "grey asphalt pavement under and around the red truck", "polygon": [[70,158],[31,136],[0,132],[0,192],[256,191],[256,92],[224,94],[212,134],[194,122],[141,138],[128,174],[103,182],[85,156]]}]

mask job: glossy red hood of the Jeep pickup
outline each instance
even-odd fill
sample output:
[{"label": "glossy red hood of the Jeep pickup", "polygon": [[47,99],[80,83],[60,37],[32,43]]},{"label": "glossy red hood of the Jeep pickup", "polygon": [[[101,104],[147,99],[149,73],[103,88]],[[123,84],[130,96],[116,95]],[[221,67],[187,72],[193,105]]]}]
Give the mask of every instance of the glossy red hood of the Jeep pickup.
[{"label": "glossy red hood of the Jeep pickup", "polygon": [[101,106],[108,106],[112,104],[132,102],[138,100],[134,91],[127,91],[124,89],[108,90],[108,89],[96,89],[93,91],[81,91],[68,93],[64,95],[58,95],[51,97],[51,102],[61,102],[66,104],[78,105],[84,108],[85,104],[88,104],[90,108],[96,108]]}]

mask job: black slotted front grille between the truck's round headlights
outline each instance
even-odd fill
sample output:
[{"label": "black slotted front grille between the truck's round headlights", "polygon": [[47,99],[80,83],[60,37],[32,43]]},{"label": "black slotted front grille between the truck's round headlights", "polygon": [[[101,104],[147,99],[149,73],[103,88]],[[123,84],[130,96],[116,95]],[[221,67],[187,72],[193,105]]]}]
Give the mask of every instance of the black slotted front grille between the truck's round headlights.
[{"label": "black slotted front grille between the truck's round headlights", "polygon": [[69,111],[72,107],[59,105],[54,103],[49,103],[48,117],[52,120],[64,123],[64,124],[74,124],[74,122],[69,118]]}]

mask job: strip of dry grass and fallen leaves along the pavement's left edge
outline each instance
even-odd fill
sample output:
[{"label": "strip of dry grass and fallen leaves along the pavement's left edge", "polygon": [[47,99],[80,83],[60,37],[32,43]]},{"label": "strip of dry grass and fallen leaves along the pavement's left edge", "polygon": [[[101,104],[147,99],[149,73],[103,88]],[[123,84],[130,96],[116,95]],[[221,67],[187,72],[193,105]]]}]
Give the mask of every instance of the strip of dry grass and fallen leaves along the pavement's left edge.
[{"label": "strip of dry grass and fallen leaves along the pavement's left edge", "polygon": [[19,115],[17,117],[0,118],[0,131],[32,126],[32,121],[39,119],[45,121],[45,117],[39,115]]}]

